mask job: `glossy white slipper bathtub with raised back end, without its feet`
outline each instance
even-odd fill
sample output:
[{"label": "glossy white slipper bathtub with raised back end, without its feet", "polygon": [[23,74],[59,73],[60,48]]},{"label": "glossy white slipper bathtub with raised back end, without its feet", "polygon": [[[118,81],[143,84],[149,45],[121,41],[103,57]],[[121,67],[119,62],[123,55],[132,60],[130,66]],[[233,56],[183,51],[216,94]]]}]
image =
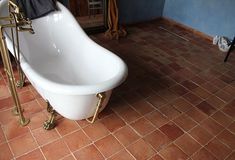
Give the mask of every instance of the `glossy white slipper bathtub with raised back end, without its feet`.
[{"label": "glossy white slipper bathtub with raised back end, without its feet", "polygon": [[[0,16],[8,14],[7,3],[0,1]],[[58,7],[60,11],[32,21],[35,34],[19,33],[21,67],[59,114],[81,120],[93,116],[97,93],[106,92],[102,109],[106,106],[112,89],[125,80],[127,67],[93,42],[63,5]],[[6,31],[7,47],[13,53],[9,35]]]}]

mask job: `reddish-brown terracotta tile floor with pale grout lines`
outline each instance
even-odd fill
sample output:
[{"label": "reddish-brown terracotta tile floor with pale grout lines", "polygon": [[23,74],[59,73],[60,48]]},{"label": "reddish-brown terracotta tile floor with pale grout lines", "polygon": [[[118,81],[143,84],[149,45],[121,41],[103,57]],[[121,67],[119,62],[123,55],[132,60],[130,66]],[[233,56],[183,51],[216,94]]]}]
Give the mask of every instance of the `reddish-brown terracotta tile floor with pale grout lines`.
[{"label": "reddish-brown terracotta tile floor with pale grout lines", "polygon": [[18,92],[31,123],[20,127],[1,65],[1,160],[235,159],[235,54],[223,63],[225,54],[211,42],[164,21],[127,30],[119,41],[91,36],[129,68],[92,125],[59,117],[45,131],[45,102],[28,83]]}]

